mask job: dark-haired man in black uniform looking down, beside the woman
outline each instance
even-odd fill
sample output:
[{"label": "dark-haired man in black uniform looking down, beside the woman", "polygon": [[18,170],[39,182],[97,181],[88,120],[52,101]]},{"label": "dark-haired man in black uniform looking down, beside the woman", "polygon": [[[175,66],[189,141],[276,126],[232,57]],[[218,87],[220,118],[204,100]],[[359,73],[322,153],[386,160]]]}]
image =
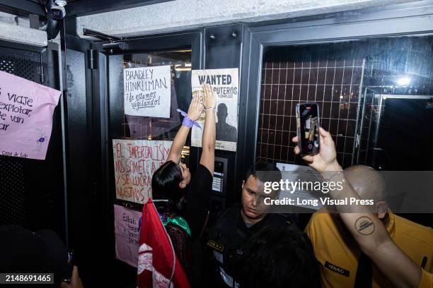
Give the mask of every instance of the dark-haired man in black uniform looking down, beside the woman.
[{"label": "dark-haired man in black uniform looking down, beside the woman", "polygon": [[243,179],[242,204],[233,205],[224,211],[211,229],[207,246],[212,249],[214,256],[217,287],[240,287],[239,280],[236,279],[238,260],[248,251],[248,239],[262,229],[272,226],[285,227],[294,236],[303,238],[296,224],[288,217],[267,213],[263,199],[277,197],[278,191],[265,194],[263,183],[279,179],[281,172],[274,164],[256,163]]}]

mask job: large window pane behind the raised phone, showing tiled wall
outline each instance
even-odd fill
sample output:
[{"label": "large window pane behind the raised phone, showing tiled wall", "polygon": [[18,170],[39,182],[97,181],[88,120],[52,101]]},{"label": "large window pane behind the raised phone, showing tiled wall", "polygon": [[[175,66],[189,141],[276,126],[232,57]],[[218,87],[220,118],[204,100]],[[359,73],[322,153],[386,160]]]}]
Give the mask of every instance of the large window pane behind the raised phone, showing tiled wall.
[{"label": "large window pane behind the raised phone, showing tiled wall", "polygon": [[423,36],[267,48],[256,157],[304,164],[291,143],[294,111],[317,102],[343,167],[431,170],[431,160],[421,167],[420,153],[403,147],[433,147],[432,44]]}]

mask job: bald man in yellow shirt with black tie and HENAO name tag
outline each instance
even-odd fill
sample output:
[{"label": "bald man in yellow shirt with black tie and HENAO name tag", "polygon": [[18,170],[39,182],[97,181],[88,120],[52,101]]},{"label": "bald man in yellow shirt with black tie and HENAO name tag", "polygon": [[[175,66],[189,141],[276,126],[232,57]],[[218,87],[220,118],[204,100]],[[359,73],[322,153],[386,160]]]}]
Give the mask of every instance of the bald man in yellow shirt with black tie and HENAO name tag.
[{"label": "bald man in yellow shirt with black tie and HENAO name tag", "polygon": [[[374,199],[377,217],[383,222],[397,246],[420,267],[432,272],[433,230],[394,215],[388,210],[388,205],[383,200],[383,179],[374,169],[357,165],[345,169],[345,176],[361,198]],[[373,194],[371,191],[376,193]],[[311,239],[316,258],[321,263],[322,285],[354,287],[357,271],[361,271],[358,270],[358,259],[362,253],[345,228],[340,215],[326,211],[316,212],[308,222],[305,232]],[[369,269],[371,272],[367,275],[373,277],[372,283],[369,283],[371,287],[392,286],[374,265],[372,268],[370,265]]]}]

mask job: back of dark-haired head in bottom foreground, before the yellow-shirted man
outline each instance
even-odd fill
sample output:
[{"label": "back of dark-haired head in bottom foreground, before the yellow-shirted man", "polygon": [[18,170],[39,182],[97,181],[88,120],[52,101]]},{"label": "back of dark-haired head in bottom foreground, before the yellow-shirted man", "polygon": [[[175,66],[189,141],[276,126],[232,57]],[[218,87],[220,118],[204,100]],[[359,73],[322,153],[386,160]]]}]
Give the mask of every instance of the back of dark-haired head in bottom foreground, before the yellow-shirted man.
[{"label": "back of dark-haired head in bottom foreground, before the yellow-shirted man", "polygon": [[308,239],[287,227],[266,227],[247,242],[237,267],[241,287],[319,287],[318,262]]}]

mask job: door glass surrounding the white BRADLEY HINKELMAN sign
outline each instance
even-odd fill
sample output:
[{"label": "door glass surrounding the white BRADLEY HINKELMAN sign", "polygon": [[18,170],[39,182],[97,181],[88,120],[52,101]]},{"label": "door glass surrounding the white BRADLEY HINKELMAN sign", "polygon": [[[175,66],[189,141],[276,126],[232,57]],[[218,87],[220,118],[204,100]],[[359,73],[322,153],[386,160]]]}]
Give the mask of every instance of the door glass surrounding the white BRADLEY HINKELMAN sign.
[{"label": "door glass surrounding the white BRADLEY HINKELMAN sign", "polygon": [[[117,63],[116,63],[117,62]],[[125,107],[113,107],[115,114],[122,114],[121,123],[112,123],[120,129],[120,138],[146,140],[173,140],[182,124],[177,109],[187,111],[191,97],[191,49],[168,50],[160,52],[126,53],[110,56],[111,67],[117,68],[117,78],[109,82],[118,82],[123,87],[123,69],[138,67],[171,66],[171,105],[169,118],[151,116],[133,116],[125,114]],[[114,75],[113,75],[114,76]],[[112,99],[118,97],[119,99]],[[122,102],[123,93],[110,95],[110,100]],[[120,126],[119,126],[120,124]],[[188,139],[187,145],[190,140]],[[189,147],[185,147],[185,161],[188,160]]]}]

